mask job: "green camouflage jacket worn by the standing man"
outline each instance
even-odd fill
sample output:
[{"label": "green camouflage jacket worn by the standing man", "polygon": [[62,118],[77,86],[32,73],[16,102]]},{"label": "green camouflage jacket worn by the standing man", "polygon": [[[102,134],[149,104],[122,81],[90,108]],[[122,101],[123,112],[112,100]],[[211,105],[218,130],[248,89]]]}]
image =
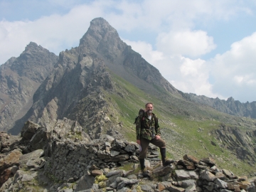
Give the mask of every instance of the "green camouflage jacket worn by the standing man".
[{"label": "green camouflage jacket worn by the standing man", "polygon": [[136,121],[136,134],[137,139],[152,139],[152,135],[158,134],[161,136],[160,127],[158,118],[154,113],[152,113],[151,120],[148,118],[146,112],[139,115],[139,118]]}]

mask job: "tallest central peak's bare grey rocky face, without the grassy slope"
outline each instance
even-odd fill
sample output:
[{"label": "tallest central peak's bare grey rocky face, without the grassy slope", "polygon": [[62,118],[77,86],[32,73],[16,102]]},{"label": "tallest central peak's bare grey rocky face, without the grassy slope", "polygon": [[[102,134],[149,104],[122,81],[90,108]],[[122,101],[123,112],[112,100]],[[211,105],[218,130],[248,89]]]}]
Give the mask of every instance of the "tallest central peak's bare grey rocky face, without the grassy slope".
[{"label": "tallest central peak's bare grey rocky face, without the grassy slope", "polygon": [[[106,122],[105,119],[108,118],[100,117],[102,114],[96,115],[97,112],[103,111],[102,107],[108,105],[103,99],[105,93],[102,92],[105,90],[114,92],[108,68],[138,87],[146,88],[146,91],[156,92],[150,85],[154,82],[155,85],[164,87],[166,91],[178,94],[178,91],[156,68],[119,38],[117,31],[107,21],[103,18],[95,18],[85,36],[81,38],[80,46],[60,53],[58,63],[35,92],[33,106],[20,121],[16,122],[10,132],[18,134],[21,124],[26,122],[26,119],[50,126],[63,117],[78,119],[82,126],[93,129],[89,131],[92,138],[96,138],[95,134],[101,132],[100,127],[113,127],[111,121],[108,121],[110,124],[104,123],[105,126],[91,128],[89,126],[90,124],[95,126],[92,122],[98,121],[96,119],[104,119],[102,122]],[[97,100],[92,95],[97,95]],[[83,98],[86,97],[85,105]],[[92,110],[95,105],[96,109]],[[87,110],[89,107],[90,110]],[[88,111],[91,114],[88,114]]]}]

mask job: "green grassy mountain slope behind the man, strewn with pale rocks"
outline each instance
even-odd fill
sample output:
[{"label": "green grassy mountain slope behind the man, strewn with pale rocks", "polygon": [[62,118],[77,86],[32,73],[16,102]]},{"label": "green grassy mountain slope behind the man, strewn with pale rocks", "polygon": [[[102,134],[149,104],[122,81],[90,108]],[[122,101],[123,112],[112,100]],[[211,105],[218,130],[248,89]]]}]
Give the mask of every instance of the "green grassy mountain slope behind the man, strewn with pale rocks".
[{"label": "green grassy mountain slope behind the man, strewn with pale rocks", "polygon": [[252,164],[255,166],[255,162],[248,164],[247,161],[241,161],[232,151],[221,147],[213,131],[220,129],[220,124],[238,127],[244,131],[255,129],[255,119],[247,118],[247,123],[241,124],[245,122],[241,117],[233,117],[213,108],[188,102],[171,95],[161,87],[155,86],[158,92],[151,95],[117,75],[112,74],[112,80],[115,82],[116,92],[108,92],[107,97],[114,101],[112,107],[116,112],[115,119],[122,124],[118,131],[128,141],[136,142],[133,123],[139,109],[144,108],[146,102],[153,102],[169,158],[182,159],[184,154],[191,154],[198,159],[212,156],[218,167],[229,169],[235,174],[249,175],[253,171]]}]

